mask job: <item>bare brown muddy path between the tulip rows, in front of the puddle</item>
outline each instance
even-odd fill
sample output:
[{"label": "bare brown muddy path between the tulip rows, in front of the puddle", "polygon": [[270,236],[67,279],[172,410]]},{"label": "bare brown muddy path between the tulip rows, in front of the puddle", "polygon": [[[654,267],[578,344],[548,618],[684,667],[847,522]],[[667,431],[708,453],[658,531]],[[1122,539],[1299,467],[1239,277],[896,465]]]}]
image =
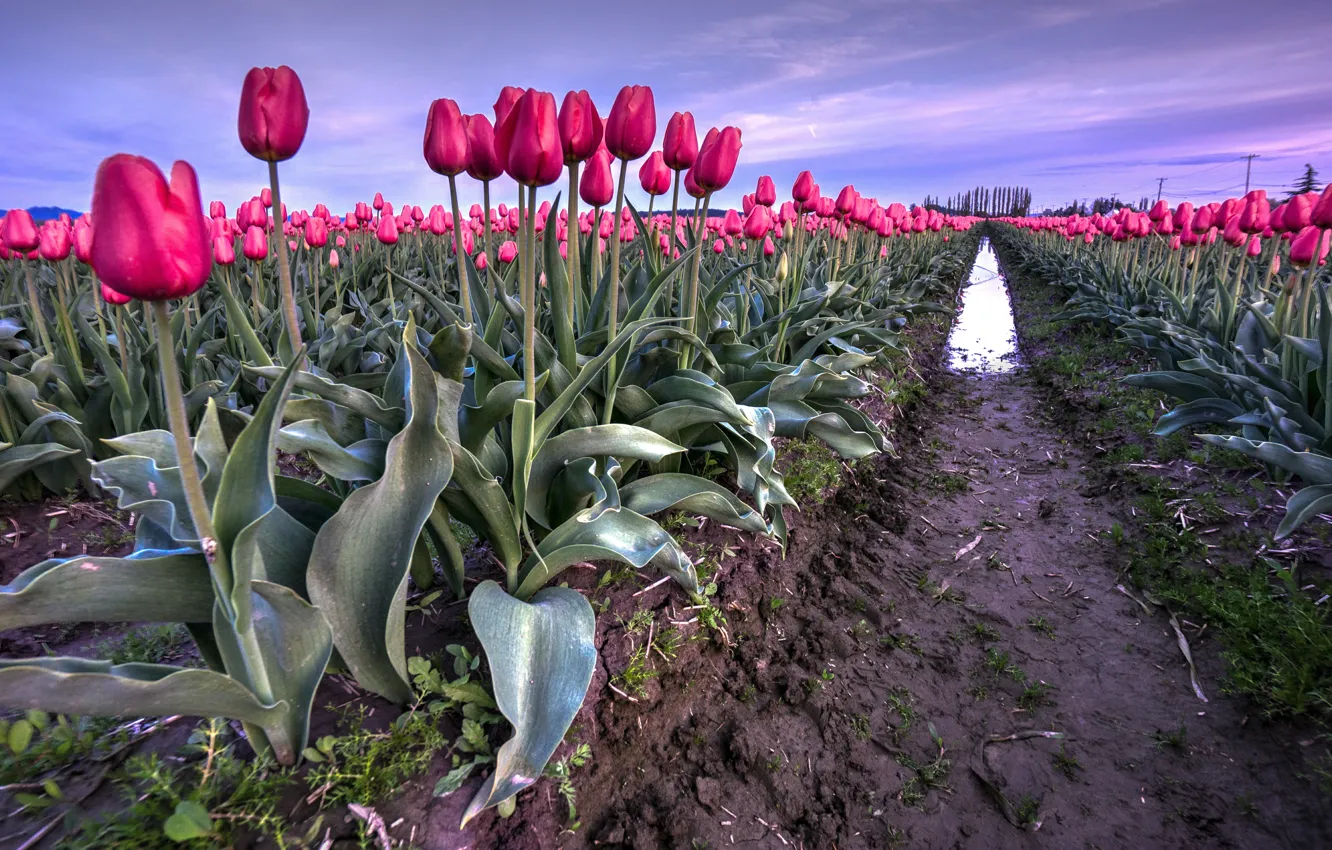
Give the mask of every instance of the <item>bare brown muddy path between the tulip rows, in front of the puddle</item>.
[{"label": "bare brown muddy path between the tulip rows, in front of the puddle", "polygon": [[[606,689],[577,777],[477,843],[523,847],[1312,847],[1332,827],[1299,730],[1197,689],[1168,618],[1119,590],[1132,506],[1026,369],[954,374],[934,352],[899,458],[848,470],[717,581],[725,637]],[[599,689],[599,690],[598,690]],[[1043,734],[1035,734],[1043,733]],[[1307,743],[1307,742],[1303,742]],[[557,835],[557,837],[553,837]]]}]

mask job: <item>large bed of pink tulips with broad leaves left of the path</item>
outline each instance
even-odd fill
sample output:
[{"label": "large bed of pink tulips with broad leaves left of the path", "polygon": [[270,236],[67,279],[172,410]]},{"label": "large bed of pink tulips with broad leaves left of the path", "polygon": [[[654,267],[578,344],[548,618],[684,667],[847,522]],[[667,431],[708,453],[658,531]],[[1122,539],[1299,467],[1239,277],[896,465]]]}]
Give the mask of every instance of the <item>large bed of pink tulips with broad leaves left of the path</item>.
[{"label": "large bed of pink tulips with broad leaves left of the path", "polygon": [[[0,224],[0,489],[83,484],[137,514],[133,554],[45,561],[0,588],[0,629],[184,622],[208,663],[0,661],[0,702],[234,717],[290,763],[334,651],[364,689],[413,703],[409,582],[442,577],[468,600],[513,726],[472,818],[541,775],[586,694],[594,614],[550,586],[561,572],[653,568],[706,605],[653,517],[785,541],[777,440],[848,458],[890,448],[851,404],[870,392],[856,373],[910,314],[943,309],[974,220],[851,187],[823,196],[809,172],[790,201],[765,177],[742,211],[710,216],[741,133],[698,144],[689,113],[641,169],[653,199],[671,188],[670,212],[641,214],[625,175],[655,136],[645,87],[605,121],[586,92],[557,112],[550,93],[506,88],[494,124],[438,100],[424,155],[449,179],[448,208],[376,196],[341,217],[289,214],[277,164],[308,115],[290,69],[249,73],[238,133],[269,185],[234,217],[217,201],[204,214],[188,164],[168,179],[116,155],[91,217]],[[566,168],[567,207],[538,204]],[[466,217],[464,173],[486,201]],[[515,208],[490,208],[501,173],[519,184]],[[318,480],[280,474],[278,450]],[[734,488],[694,474],[706,457]],[[465,573],[485,568],[454,522],[498,581],[468,593]]]}]

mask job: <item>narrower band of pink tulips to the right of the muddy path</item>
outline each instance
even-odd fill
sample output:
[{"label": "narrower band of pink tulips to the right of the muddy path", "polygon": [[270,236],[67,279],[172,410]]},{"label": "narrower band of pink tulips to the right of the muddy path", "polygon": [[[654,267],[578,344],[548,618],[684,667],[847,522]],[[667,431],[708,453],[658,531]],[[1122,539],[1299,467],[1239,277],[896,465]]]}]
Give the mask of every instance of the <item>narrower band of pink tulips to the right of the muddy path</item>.
[{"label": "narrower band of pink tulips to the right of the muddy path", "polygon": [[1062,318],[1110,322],[1156,358],[1128,382],[1179,401],[1158,434],[1220,426],[1201,440],[1297,477],[1279,538],[1332,510],[1332,188],[1006,221],[1018,270],[1068,289]]}]

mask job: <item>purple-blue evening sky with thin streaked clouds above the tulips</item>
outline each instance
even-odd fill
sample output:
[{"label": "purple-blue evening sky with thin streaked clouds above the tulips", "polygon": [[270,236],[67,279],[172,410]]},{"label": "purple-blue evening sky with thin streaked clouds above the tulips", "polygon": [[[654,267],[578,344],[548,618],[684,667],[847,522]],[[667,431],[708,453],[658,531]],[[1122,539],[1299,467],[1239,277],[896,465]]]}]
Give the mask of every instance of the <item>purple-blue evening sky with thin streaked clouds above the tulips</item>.
[{"label": "purple-blue evening sky with thin streaked clouds above the tulips", "polygon": [[[15,8],[16,7],[16,8]],[[280,3],[63,0],[3,16],[0,209],[87,209],[117,152],[189,161],[228,211],[266,185],[236,113],[253,65],[297,71],[305,144],[282,163],[288,209],[341,214],[376,192],[448,205],[426,168],[429,104],[492,113],[502,85],[602,116],[650,85],[658,145],[674,111],[743,135],[721,204],[802,169],[823,193],[919,203],[1026,185],[1036,209],[1118,195],[1221,200],[1332,179],[1332,15],[1316,0],[670,0]],[[635,204],[637,164],[629,185]],[[566,181],[542,189],[554,199]],[[460,180],[462,201],[480,187]],[[497,181],[492,201],[517,196]],[[666,201],[669,204],[669,201]]]}]

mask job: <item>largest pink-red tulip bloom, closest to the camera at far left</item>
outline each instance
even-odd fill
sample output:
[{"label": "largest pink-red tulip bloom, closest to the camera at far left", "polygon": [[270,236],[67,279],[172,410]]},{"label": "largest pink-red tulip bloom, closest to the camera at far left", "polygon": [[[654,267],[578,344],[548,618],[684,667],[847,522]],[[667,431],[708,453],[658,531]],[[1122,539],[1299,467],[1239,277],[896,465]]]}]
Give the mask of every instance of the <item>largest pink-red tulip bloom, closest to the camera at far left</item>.
[{"label": "largest pink-red tulip bloom, closest to the camera at far left", "polygon": [[184,298],[208,280],[208,222],[189,163],[172,165],[168,184],[151,160],[107,157],[97,168],[92,214],[92,265],[116,292],[164,301]]}]

